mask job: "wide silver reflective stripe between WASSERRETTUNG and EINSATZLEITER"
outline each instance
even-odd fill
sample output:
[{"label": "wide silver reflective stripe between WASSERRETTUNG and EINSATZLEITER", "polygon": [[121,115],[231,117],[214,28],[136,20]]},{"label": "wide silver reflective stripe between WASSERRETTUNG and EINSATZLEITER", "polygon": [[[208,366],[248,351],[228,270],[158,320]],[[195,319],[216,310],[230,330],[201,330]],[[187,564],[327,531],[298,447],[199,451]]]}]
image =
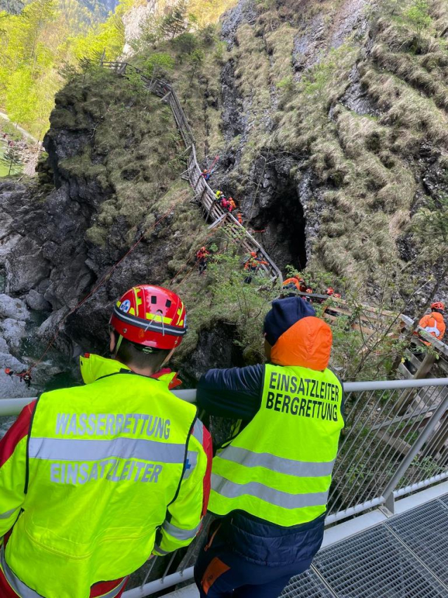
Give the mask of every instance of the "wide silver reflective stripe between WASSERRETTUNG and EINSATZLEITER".
[{"label": "wide silver reflective stripe between WASSERRETTUNG and EINSATZLEITER", "polygon": [[97,461],[108,457],[143,459],[161,463],[183,463],[184,444],[169,444],[140,438],[73,440],[29,438],[29,457],[54,461]]}]

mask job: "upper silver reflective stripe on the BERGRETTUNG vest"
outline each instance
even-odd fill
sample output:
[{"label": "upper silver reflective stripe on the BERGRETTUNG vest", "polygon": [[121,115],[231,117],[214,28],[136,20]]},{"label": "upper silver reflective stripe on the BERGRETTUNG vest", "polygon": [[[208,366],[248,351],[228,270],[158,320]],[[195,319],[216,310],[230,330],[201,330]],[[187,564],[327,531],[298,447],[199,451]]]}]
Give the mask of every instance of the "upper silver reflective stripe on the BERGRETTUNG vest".
[{"label": "upper silver reflective stripe on the BERGRETTUNG vest", "polygon": [[265,467],[271,472],[286,474],[298,478],[320,478],[331,476],[334,460],[325,462],[294,461],[294,459],[284,459],[276,457],[269,453],[253,453],[246,448],[238,446],[228,446],[222,453],[218,453],[219,459],[232,461],[244,465],[244,467]]}]

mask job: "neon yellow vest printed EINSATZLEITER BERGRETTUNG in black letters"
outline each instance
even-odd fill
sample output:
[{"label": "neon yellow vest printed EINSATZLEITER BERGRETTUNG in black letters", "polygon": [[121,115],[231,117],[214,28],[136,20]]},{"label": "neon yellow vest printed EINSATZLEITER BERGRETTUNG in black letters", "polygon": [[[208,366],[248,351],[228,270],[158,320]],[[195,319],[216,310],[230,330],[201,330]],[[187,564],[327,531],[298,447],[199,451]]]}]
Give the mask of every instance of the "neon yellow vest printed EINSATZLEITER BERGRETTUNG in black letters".
[{"label": "neon yellow vest printed EINSATZLEITER BERGRETTUNG in black letters", "polygon": [[240,509],[280,526],[324,514],[342,400],[328,369],[266,365],[261,408],[213,459],[209,511]]}]

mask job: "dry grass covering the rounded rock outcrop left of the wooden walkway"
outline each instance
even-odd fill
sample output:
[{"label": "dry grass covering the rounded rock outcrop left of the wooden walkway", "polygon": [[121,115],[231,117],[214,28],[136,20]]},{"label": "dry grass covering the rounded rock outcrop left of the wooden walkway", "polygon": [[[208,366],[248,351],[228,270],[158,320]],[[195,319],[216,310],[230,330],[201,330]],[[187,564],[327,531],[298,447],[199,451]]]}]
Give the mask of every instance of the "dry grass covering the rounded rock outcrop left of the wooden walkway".
[{"label": "dry grass covering the rounded rock outcrop left of the wooden walkway", "polygon": [[136,82],[95,70],[58,94],[52,131],[81,131],[88,143],[60,161],[60,169],[92,178],[110,197],[100,207],[88,240],[104,246],[112,223],[124,218],[125,236],[136,229],[185,168],[183,143],[171,110]]}]

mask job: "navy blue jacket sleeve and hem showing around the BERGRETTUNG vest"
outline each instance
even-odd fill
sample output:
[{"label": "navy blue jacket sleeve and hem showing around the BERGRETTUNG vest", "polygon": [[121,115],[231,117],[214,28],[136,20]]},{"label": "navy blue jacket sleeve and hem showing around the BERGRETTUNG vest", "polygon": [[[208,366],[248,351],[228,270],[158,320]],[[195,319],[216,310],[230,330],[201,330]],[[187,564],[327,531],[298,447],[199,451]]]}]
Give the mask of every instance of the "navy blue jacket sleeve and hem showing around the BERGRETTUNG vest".
[{"label": "navy blue jacket sleeve and hem showing around the BERGRETTUNG vest", "polygon": [[[243,420],[247,425],[261,407],[264,365],[209,370],[199,380],[197,403],[209,415]],[[283,527],[242,511],[225,516],[229,547],[244,559],[267,566],[306,561],[322,544],[324,515],[307,524]]]}]

